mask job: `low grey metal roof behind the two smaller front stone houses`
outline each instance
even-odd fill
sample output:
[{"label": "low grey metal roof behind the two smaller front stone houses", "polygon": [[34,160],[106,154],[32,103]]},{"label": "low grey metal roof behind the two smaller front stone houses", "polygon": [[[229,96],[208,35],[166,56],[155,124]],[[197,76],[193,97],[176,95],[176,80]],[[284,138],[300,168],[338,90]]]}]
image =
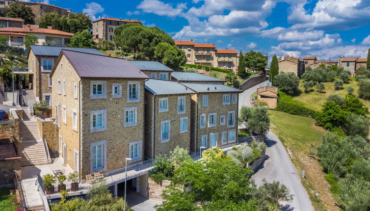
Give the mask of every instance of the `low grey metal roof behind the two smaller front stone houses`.
[{"label": "low grey metal roof behind the two smaller front stone houses", "polygon": [[173,72],[172,80],[187,83],[215,83],[224,84],[226,80],[209,77],[199,73],[190,72]]}]

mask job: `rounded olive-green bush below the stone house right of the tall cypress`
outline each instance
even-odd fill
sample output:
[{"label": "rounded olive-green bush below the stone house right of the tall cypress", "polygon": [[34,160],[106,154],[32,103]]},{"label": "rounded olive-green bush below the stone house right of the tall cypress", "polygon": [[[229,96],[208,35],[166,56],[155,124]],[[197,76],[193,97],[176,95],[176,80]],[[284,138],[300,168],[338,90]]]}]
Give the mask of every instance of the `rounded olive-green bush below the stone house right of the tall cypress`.
[{"label": "rounded olive-green bush below the stone house right of the tall cypress", "polygon": [[280,73],[274,77],[273,84],[290,95],[297,93],[299,90],[299,78],[294,73]]}]

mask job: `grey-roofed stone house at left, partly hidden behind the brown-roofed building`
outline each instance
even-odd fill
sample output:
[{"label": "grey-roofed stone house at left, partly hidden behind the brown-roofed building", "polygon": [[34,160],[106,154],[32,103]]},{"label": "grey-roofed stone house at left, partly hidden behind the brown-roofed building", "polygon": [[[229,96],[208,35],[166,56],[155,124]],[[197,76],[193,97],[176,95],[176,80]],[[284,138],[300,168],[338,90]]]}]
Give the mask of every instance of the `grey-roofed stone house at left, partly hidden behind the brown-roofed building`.
[{"label": "grey-roofed stone house at left, partly hidden behind the brown-roofed building", "polygon": [[62,49],[104,55],[96,49],[31,45],[27,54],[29,81],[35,96],[52,106],[52,79],[50,73]]}]

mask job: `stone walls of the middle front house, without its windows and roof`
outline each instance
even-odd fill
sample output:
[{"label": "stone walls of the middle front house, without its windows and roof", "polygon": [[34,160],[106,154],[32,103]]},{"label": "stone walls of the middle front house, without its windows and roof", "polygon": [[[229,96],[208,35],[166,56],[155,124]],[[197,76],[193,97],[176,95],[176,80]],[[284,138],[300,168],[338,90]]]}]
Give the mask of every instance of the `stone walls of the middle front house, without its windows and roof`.
[{"label": "stone walls of the middle front house, without its windows and roof", "polygon": [[[185,113],[178,114],[178,97],[185,96]],[[168,98],[168,111],[159,111],[159,99]],[[190,150],[190,94],[153,95],[145,91],[145,157],[169,154],[177,146]],[[180,131],[180,118],[187,118],[187,130]],[[161,141],[161,122],[170,121],[170,138]]]}]

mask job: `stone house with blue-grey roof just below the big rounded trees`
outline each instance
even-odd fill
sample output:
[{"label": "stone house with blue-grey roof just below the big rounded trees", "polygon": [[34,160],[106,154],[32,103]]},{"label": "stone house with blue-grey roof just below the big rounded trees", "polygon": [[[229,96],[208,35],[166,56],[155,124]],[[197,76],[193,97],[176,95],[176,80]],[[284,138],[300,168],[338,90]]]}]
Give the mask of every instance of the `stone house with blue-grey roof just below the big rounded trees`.
[{"label": "stone house with blue-grey roof just below the big rounded trees", "polygon": [[158,61],[129,61],[151,79],[171,80],[173,70]]}]

